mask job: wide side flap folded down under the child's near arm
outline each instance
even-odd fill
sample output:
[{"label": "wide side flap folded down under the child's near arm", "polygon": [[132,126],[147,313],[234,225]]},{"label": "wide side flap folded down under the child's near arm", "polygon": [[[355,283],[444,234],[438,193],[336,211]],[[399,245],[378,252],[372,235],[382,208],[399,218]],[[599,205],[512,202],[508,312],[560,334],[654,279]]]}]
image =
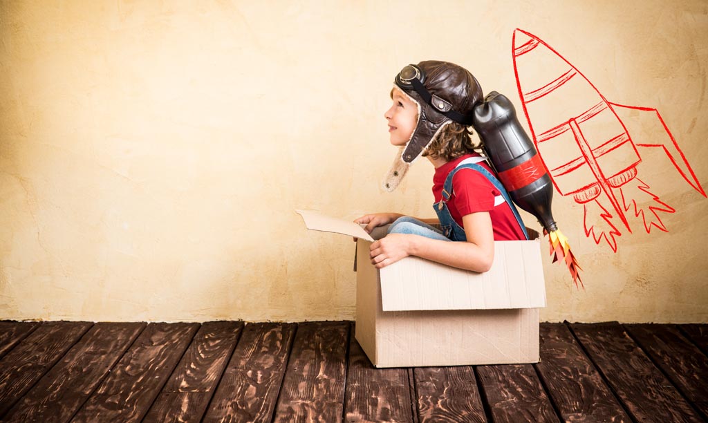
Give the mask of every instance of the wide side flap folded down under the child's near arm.
[{"label": "wide side flap folded down under the child's near arm", "polygon": [[538,241],[496,241],[489,272],[407,257],[380,270],[383,311],[543,308]]}]

